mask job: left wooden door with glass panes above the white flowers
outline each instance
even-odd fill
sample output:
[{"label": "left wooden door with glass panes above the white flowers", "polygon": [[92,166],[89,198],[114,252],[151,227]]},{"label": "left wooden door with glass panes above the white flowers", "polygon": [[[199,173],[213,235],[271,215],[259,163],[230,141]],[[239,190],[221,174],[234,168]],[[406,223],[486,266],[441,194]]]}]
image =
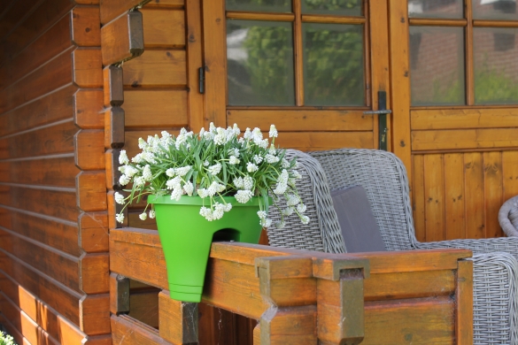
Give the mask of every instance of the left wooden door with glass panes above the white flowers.
[{"label": "left wooden door with glass panes above the white flowers", "polygon": [[[331,4],[333,3],[333,4]],[[204,0],[205,126],[237,123],[302,150],[377,148],[389,91],[387,4]]]}]

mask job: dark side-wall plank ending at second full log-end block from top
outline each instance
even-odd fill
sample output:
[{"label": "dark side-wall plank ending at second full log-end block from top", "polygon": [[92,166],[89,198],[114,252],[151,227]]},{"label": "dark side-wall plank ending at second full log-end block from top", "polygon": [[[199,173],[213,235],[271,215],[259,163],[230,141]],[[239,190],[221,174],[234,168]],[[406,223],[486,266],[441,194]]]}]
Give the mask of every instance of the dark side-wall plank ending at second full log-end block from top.
[{"label": "dark side-wall plank ending at second full log-end block from top", "polygon": [[70,53],[71,50],[64,50],[57,58],[41,65],[33,73],[27,74],[9,88],[0,91],[0,113],[10,111],[72,82]]}]

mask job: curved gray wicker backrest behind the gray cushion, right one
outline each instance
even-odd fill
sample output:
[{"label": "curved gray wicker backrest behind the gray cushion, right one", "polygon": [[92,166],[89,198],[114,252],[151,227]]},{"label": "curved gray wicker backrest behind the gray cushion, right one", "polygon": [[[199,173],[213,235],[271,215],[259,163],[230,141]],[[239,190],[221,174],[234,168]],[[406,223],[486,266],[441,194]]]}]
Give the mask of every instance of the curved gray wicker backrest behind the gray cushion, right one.
[{"label": "curved gray wicker backrest behind the gray cushion, right one", "polygon": [[405,165],[390,152],[334,149],[310,152],[331,190],[362,186],[387,250],[415,249],[414,220]]}]

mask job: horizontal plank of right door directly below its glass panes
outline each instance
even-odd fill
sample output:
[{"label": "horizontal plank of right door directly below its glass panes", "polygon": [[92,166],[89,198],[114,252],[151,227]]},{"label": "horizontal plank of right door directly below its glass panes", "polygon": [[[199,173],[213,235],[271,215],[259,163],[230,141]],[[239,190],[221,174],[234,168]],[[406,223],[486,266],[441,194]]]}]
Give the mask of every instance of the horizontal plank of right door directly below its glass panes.
[{"label": "horizontal plank of right door directly below its glass panes", "polygon": [[411,111],[412,129],[503,128],[518,126],[514,108],[423,109]]}]

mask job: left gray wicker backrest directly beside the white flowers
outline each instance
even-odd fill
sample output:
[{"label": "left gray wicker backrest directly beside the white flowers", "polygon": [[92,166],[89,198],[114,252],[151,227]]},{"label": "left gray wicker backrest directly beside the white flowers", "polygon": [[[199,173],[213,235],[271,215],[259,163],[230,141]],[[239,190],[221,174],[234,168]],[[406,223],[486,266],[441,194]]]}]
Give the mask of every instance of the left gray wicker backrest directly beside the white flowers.
[{"label": "left gray wicker backrest directly beside the white flowers", "polygon": [[[307,207],[305,215],[310,218],[310,222],[302,224],[297,214],[284,217],[285,227],[278,229],[272,225],[267,229],[270,245],[344,253],[344,239],[333,208],[326,173],[315,158],[304,152],[288,149],[286,157],[297,158],[298,173],[302,175],[302,179],[297,180],[298,196]],[[286,200],[279,197],[278,203],[284,205]],[[273,220],[273,224],[282,219],[281,213],[274,206],[270,206],[268,217]]]}]

